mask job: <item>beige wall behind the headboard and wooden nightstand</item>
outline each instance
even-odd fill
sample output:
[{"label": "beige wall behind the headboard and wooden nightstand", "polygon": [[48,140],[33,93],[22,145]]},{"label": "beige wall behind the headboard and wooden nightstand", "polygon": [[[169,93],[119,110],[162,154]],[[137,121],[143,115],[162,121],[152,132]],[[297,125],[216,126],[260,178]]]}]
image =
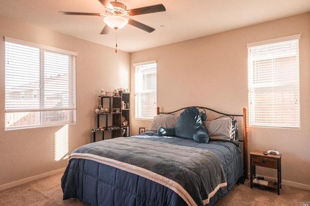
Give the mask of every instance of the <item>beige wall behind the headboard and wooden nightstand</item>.
[{"label": "beige wall behind the headboard and wooden nightstand", "polygon": [[[135,52],[131,65],[157,60],[157,105],[163,111],[199,105],[242,114],[248,104],[247,43],[298,33],[300,129],[250,127],[248,150],[279,150],[283,184],[310,189],[310,13]],[[132,134],[151,124],[131,117]],[[257,174],[276,177],[275,170],[265,168]]]}]

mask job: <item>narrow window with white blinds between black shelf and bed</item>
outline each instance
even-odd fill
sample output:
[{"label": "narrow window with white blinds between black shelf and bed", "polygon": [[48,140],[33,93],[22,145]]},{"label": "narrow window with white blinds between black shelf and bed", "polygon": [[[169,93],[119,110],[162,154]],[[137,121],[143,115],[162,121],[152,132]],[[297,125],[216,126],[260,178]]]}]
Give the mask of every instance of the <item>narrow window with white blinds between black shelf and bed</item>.
[{"label": "narrow window with white blinds between black shelf and bed", "polygon": [[135,118],[153,119],[156,116],[156,62],[135,66]]}]

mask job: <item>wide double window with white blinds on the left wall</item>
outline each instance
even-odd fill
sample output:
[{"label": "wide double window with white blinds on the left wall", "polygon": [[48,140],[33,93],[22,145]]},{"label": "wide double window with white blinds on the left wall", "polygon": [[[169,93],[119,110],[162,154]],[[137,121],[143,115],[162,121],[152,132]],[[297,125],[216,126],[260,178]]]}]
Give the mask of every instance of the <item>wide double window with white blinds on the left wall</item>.
[{"label": "wide double window with white blinds on the left wall", "polygon": [[5,37],[5,129],[74,122],[76,55]]}]

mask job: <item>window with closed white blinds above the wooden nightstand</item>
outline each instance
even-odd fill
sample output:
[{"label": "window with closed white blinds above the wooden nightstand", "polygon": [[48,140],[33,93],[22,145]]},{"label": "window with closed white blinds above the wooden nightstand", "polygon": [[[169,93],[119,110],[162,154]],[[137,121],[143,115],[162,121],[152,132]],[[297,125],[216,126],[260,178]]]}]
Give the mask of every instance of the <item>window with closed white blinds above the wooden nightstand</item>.
[{"label": "window with closed white blinds above the wooden nightstand", "polygon": [[299,128],[300,35],[248,44],[248,124]]}]

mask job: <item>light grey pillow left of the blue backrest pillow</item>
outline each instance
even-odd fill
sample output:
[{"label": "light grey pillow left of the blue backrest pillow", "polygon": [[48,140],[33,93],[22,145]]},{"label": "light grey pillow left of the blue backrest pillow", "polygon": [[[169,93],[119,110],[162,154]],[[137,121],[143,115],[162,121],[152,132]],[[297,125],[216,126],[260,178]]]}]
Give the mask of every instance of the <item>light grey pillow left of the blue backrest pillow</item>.
[{"label": "light grey pillow left of the blue backrest pillow", "polygon": [[179,116],[157,115],[154,117],[149,131],[157,131],[159,127],[175,127]]}]

